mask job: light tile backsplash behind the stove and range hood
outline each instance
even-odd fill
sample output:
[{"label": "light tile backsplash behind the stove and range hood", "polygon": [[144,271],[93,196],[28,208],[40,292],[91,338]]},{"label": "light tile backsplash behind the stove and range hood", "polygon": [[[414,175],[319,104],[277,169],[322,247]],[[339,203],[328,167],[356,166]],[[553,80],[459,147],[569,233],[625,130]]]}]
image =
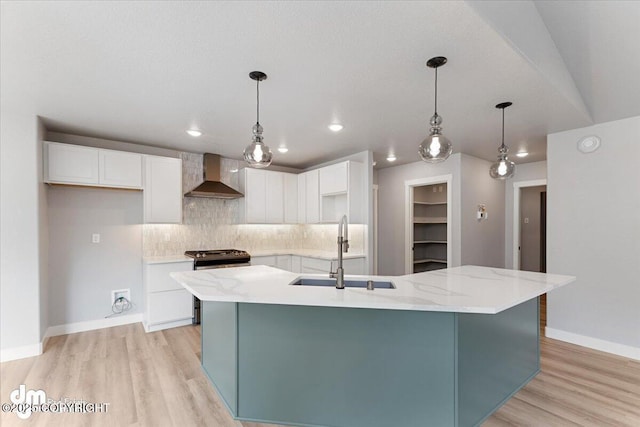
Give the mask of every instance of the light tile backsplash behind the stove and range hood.
[{"label": "light tile backsplash behind the stove and range hood", "polygon": [[[238,188],[238,160],[221,159],[221,180]],[[202,182],[202,154],[182,153],[183,192]],[[236,224],[238,200],[185,197],[182,224],[145,224],[143,256],[171,256],[186,250],[271,249],[337,250],[337,224]],[[350,252],[364,251],[364,225],[349,226]]]}]

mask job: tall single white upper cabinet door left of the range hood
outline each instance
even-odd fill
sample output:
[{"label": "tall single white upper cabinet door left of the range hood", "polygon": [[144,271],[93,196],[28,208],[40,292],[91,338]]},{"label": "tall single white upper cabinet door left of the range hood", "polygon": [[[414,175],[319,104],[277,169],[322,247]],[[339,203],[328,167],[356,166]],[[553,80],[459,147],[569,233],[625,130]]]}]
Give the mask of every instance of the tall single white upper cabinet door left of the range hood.
[{"label": "tall single white upper cabinet door left of the range hood", "polygon": [[144,221],[182,222],[182,160],[145,156]]}]

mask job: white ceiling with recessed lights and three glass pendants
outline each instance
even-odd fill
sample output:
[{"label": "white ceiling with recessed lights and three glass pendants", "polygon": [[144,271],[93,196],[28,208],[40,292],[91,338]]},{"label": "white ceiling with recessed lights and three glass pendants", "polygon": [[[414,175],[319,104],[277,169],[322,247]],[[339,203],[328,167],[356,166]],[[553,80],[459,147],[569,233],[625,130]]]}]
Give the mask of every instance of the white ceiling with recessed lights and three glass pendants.
[{"label": "white ceiling with recessed lights and three glass pendants", "polygon": [[454,152],[495,158],[502,101],[511,153],[531,153],[516,162],[545,159],[548,133],[640,115],[640,2],[3,2],[0,53],[3,112],[231,158],[264,71],[265,142],[301,168],[365,149],[416,161],[433,56]]}]

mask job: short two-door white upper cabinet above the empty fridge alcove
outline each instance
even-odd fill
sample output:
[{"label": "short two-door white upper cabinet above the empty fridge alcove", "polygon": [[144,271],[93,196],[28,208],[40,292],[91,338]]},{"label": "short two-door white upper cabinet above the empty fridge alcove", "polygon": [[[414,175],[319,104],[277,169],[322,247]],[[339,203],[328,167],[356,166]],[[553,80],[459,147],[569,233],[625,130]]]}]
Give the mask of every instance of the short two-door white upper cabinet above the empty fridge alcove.
[{"label": "short two-door white upper cabinet above the empty fridge alcove", "polygon": [[51,184],[142,188],[138,153],[46,142],[44,158],[44,179]]}]

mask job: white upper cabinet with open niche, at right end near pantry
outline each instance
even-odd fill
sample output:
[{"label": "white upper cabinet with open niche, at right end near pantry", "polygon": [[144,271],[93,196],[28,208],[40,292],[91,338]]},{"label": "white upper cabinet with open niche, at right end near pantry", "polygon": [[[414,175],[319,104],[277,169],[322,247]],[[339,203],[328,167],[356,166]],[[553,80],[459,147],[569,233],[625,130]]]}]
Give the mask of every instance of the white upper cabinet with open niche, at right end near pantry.
[{"label": "white upper cabinet with open niche, at right end near pantry", "polygon": [[364,167],[346,161],[320,168],[320,222],[338,222],[343,215],[351,223],[364,220]]}]

